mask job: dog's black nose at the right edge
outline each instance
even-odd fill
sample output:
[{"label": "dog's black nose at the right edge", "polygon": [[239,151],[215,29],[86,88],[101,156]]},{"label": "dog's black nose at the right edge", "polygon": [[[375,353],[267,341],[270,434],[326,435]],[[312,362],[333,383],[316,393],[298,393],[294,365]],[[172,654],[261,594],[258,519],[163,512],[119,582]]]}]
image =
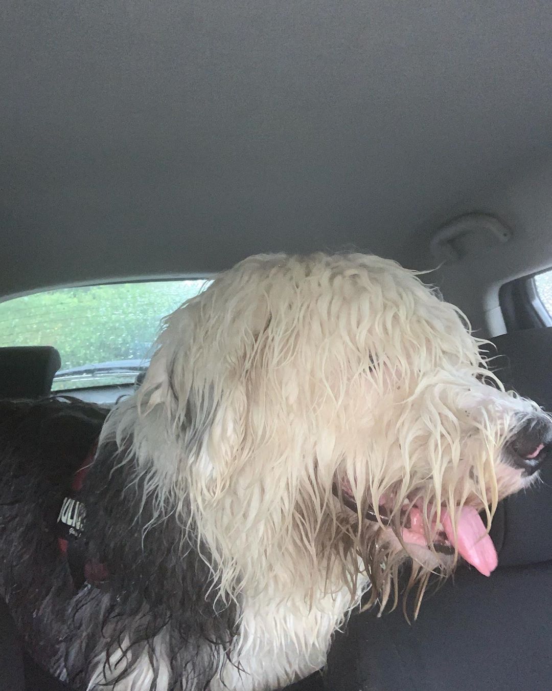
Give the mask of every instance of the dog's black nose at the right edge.
[{"label": "dog's black nose at the right edge", "polygon": [[544,416],[527,420],[506,448],[513,465],[533,475],[552,460],[552,421]]}]

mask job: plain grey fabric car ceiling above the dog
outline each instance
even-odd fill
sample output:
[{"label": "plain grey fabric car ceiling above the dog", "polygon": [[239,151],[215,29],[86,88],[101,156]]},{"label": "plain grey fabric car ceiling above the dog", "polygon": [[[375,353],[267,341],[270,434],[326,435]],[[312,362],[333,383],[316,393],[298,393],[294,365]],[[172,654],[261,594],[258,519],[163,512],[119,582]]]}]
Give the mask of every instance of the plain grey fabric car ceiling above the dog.
[{"label": "plain grey fabric car ceiling above the dog", "polygon": [[0,17],[0,295],[282,249],[427,267],[440,223],[549,155],[548,1],[3,0]]}]

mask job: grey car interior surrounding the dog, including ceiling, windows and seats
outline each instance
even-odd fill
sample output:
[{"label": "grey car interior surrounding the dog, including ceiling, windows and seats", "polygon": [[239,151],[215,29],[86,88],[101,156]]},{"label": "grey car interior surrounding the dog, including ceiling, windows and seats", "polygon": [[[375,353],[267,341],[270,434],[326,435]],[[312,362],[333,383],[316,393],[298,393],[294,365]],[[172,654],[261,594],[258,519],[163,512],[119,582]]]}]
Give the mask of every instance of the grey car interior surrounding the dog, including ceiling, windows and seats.
[{"label": "grey car interior surrounding the dog, including ceiling, windows and seats", "polygon": [[[246,256],[423,272],[552,410],[552,5],[6,1],[0,397],[112,406],[164,315]],[[102,305],[107,305],[103,307]],[[294,691],[552,688],[552,469],[499,566],[351,616]],[[369,654],[368,654],[369,651]],[[68,688],[0,612],[0,688]]]}]

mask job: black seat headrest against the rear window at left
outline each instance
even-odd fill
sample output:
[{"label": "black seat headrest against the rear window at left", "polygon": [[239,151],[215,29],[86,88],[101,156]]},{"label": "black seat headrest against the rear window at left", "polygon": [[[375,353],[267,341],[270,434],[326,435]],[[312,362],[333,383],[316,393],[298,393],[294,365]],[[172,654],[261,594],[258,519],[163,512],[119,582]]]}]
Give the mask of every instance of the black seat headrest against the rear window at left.
[{"label": "black seat headrest against the rear window at left", "polygon": [[47,396],[60,367],[59,352],[50,345],[0,348],[0,397]]}]

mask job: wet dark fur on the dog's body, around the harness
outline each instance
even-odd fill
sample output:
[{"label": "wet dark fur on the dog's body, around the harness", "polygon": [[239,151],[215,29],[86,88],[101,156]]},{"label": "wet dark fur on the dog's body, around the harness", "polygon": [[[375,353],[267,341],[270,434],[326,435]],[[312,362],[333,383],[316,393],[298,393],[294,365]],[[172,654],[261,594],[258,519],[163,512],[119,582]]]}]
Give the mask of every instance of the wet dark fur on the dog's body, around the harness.
[{"label": "wet dark fur on the dog's body, around the harness", "polygon": [[208,567],[197,545],[181,549],[174,515],[150,523],[144,491],[128,483],[115,448],[103,446],[83,488],[87,558],[107,567],[108,580],[77,592],[59,551],[61,502],[106,412],[68,399],[0,402],[1,594],[32,654],[75,688],[87,688],[106,647],[121,677],[144,652],[155,670],[159,634],[170,651],[168,688],[192,680],[205,688],[219,668],[213,643],[228,645],[235,613],[215,607]]}]

